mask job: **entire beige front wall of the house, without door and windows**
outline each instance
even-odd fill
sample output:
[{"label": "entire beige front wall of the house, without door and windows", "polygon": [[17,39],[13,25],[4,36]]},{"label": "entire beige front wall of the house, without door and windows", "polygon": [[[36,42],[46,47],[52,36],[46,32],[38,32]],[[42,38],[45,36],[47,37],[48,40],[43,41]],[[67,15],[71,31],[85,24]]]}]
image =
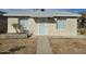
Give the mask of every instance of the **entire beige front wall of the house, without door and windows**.
[{"label": "entire beige front wall of the house, without door and windows", "polygon": [[[38,23],[36,22],[36,17],[29,17],[28,21],[30,22],[30,33],[34,35],[38,35]],[[48,35],[52,36],[76,36],[77,35],[77,18],[66,18],[66,28],[63,30],[59,30],[57,28],[57,24],[53,18],[48,21]],[[19,23],[19,17],[8,17],[8,33],[16,33],[15,28],[12,24]]]}]

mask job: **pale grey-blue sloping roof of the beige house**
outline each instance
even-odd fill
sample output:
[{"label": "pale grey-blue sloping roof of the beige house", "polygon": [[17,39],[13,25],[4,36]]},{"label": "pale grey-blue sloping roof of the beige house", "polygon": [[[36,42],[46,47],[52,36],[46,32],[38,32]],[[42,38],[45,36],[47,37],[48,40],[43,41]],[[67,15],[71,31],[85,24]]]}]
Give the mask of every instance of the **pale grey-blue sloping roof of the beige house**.
[{"label": "pale grey-blue sloping roof of the beige house", "polygon": [[81,16],[81,14],[66,12],[66,11],[34,11],[25,9],[1,9],[0,11],[5,12],[3,16],[32,16],[32,17],[53,17],[53,16]]}]

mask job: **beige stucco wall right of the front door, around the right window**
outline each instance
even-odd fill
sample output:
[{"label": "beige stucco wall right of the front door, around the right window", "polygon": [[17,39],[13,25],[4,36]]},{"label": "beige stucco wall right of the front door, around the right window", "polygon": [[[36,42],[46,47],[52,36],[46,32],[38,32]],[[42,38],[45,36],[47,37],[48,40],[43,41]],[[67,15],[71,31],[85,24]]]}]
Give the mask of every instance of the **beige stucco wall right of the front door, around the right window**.
[{"label": "beige stucco wall right of the front door, around the right window", "polygon": [[65,29],[58,29],[56,23],[48,24],[48,34],[53,36],[76,36],[77,35],[77,18],[66,18]]}]

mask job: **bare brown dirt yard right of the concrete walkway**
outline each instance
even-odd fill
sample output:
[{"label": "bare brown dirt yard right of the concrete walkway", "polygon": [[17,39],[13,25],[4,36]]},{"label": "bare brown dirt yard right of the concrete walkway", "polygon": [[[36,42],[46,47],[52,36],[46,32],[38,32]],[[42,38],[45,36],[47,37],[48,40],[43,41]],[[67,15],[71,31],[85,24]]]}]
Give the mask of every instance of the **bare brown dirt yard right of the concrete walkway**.
[{"label": "bare brown dirt yard right of the concrete walkway", "polygon": [[86,54],[86,39],[51,38],[54,54]]}]

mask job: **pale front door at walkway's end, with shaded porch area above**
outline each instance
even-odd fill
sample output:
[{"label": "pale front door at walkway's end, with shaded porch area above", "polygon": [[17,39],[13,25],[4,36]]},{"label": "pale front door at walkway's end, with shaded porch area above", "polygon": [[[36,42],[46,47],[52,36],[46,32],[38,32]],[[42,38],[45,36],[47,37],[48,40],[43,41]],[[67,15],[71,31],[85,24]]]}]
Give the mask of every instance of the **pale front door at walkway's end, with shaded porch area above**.
[{"label": "pale front door at walkway's end, with shaded porch area above", "polygon": [[40,17],[39,20],[39,35],[47,35],[48,33],[48,18],[47,17]]}]

